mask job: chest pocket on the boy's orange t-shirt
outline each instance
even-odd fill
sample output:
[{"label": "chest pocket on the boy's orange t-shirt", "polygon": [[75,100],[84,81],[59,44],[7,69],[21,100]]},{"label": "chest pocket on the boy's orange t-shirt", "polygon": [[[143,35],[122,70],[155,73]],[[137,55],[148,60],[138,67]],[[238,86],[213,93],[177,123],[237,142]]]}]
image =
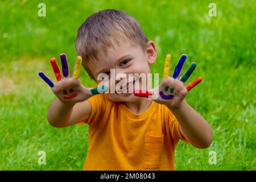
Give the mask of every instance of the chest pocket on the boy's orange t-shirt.
[{"label": "chest pocket on the boy's orange t-shirt", "polygon": [[144,136],[144,168],[158,169],[163,155],[163,134],[155,137],[149,134]]}]

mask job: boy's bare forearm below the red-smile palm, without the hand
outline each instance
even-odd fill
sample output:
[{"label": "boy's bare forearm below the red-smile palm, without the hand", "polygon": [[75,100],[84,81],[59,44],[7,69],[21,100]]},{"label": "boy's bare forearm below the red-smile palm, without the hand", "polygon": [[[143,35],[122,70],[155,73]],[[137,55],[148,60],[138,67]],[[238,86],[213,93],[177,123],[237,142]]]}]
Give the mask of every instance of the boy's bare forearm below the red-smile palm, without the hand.
[{"label": "boy's bare forearm below the red-smile palm, without the hand", "polygon": [[89,118],[92,107],[88,101],[64,104],[58,98],[48,108],[47,119],[54,127],[67,127]]}]

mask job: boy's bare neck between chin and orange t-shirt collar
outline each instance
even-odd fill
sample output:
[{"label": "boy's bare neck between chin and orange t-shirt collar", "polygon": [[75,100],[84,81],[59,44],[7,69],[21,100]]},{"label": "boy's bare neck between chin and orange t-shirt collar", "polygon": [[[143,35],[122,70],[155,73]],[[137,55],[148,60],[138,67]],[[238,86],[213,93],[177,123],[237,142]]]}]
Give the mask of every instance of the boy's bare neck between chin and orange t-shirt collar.
[{"label": "boy's bare neck between chin and orange t-shirt collar", "polygon": [[135,102],[122,102],[122,104],[126,105],[133,113],[141,114],[151,105],[152,100],[148,100],[148,98],[140,97]]}]

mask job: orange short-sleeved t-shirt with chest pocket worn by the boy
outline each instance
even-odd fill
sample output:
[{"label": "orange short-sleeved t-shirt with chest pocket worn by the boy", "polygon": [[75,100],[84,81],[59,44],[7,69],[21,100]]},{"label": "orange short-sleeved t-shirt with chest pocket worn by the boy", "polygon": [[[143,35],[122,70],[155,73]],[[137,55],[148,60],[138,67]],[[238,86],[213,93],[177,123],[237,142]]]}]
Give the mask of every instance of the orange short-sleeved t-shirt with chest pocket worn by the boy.
[{"label": "orange short-sleeved t-shirt with chest pocket worn by the boy", "polygon": [[89,98],[92,112],[84,170],[174,170],[175,146],[185,140],[174,114],[154,101],[141,114],[104,94]]}]

